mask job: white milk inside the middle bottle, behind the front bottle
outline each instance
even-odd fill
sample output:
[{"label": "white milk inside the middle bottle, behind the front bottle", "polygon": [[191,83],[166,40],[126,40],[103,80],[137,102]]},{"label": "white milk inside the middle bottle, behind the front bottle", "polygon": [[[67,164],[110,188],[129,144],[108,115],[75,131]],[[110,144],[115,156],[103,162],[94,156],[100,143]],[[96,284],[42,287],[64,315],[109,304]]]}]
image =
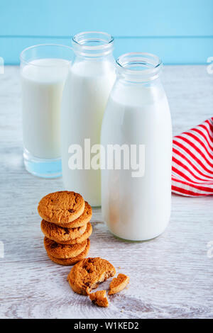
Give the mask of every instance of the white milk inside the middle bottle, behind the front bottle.
[{"label": "white milk inside the middle bottle, behind the front bottle", "polygon": [[[80,145],[84,154],[84,139],[91,148],[99,144],[102,118],[109,93],[115,81],[114,64],[94,60],[76,62],[68,74],[62,97],[62,176],[65,188],[77,191],[90,205],[101,204],[101,171],[70,170],[70,145]],[[70,151],[71,152],[71,151]]]}]

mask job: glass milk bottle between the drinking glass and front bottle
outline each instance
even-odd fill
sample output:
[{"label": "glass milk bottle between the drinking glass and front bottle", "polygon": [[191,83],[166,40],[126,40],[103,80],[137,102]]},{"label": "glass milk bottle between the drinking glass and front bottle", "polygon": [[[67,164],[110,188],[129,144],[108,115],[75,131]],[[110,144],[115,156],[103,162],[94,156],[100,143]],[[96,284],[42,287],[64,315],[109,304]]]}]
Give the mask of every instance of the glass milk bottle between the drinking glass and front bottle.
[{"label": "glass milk bottle between the drinking glass and front bottle", "polygon": [[[114,40],[87,32],[72,40],[75,60],[62,96],[62,176],[66,190],[76,191],[92,206],[101,205],[101,172],[92,169],[100,143],[104,109],[114,84]],[[93,150],[94,149],[94,150]]]}]

